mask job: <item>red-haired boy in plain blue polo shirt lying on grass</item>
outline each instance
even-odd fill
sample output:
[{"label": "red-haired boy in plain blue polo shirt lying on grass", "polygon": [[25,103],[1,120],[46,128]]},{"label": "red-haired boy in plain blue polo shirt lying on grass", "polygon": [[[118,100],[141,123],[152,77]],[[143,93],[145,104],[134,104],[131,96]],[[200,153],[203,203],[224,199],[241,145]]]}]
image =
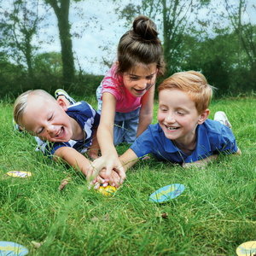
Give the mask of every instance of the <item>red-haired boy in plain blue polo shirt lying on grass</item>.
[{"label": "red-haired boy in plain blue polo shirt lying on grass", "polygon": [[[125,171],[149,153],[183,167],[204,166],[218,154],[241,154],[225,113],[207,119],[212,86],[201,73],[174,73],[158,90],[158,124],[149,125],[119,157]],[[90,172],[95,172],[92,167]],[[114,171],[101,175],[110,184],[119,182]]]}]

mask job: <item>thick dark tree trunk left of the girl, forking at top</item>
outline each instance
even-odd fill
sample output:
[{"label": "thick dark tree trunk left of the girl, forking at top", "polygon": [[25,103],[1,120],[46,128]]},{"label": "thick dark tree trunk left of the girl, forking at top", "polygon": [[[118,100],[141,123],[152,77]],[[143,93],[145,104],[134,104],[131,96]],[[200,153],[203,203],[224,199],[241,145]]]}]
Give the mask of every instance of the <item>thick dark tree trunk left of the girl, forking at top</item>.
[{"label": "thick dark tree trunk left of the girl, forking at top", "polygon": [[61,41],[61,59],[63,84],[70,85],[74,82],[75,67],[73,59],[72,37],[69,23],[70,0],[44,0],[52,9],[58,20],[59,36]]}]

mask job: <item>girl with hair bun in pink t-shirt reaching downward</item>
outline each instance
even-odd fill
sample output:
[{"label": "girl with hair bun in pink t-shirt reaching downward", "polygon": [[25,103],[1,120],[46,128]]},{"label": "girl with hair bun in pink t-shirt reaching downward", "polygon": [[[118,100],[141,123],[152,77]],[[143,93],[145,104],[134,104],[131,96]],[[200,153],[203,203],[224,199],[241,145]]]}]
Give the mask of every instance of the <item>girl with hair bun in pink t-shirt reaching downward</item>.
[{"label": "girl with hair bun in pink t-shirt reaching downward", "polygon": [[155,79],[164,73],[163,49],[152,20],[139,15],[131,30],[118,44],[117,61],[96,90],[101,121],[97,138],[102,156],[90,172],[105,170],[106,184],[112,185],[111,172],[125,178],[115,145],[133,143],[153,118]]}]

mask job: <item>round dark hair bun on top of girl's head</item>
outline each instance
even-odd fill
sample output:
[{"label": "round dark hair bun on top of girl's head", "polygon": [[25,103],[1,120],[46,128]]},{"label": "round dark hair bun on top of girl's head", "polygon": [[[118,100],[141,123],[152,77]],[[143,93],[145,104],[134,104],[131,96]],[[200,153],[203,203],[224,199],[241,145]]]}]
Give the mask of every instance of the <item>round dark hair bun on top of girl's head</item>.
[{"label": "round dark hair bun on top of girl's head", "polygon": [[158,37],[158,32],[154,21],[150,20],[147,16],[139,15],[133,21],[132,36],[134,38],[141,38],[144,40],[154,40]]}]

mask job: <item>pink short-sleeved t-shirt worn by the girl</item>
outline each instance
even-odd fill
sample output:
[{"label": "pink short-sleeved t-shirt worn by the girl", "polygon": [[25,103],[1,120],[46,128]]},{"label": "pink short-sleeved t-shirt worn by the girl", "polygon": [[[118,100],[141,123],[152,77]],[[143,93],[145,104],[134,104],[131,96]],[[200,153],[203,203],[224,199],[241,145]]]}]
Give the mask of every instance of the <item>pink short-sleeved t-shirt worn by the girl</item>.
[{"label": "pink short-sleeved t-shirt worn by the girl", "polygon": [[117,65],[113,64],[102,80],[102,94],[109,92],[115,97],[116,112],[128,113],[141,107],[142,97],[133,96],[130,91],[125,88],[123,76],[117,75],[116,70]]}]

